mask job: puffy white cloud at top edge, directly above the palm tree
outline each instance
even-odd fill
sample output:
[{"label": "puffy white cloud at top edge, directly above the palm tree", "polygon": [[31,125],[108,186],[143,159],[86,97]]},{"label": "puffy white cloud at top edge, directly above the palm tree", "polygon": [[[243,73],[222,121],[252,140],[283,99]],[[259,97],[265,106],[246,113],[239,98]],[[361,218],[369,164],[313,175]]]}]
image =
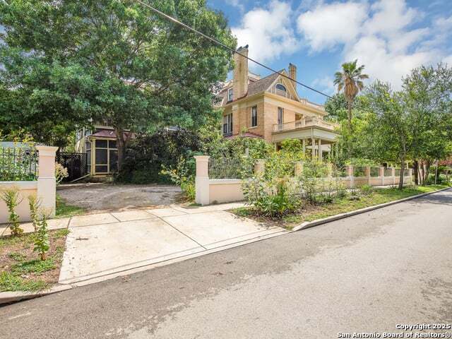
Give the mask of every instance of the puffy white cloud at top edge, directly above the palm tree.
[{"label": "puffy white cloud at top edge, directly above the palm tree", "polygon": [[311,49],[319,52],[355,40],[366,18],[367,4],[320,4],[314,11],[304,12],[298,17],[297,28]]}]

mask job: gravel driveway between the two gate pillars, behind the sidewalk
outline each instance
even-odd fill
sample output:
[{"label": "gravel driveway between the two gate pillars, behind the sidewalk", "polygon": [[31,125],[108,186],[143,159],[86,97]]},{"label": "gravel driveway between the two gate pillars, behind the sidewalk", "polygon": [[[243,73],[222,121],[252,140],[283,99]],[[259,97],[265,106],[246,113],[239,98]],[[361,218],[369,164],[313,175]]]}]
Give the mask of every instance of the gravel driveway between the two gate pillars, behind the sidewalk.
[{"label": "gravel driveway between the two gate pillars, behind the sidewalk", "polygon": [[61,198],[73,206],[86,208],[90,213],[103,210],[168,206],[181,195],[179,186],[74,184],[58,188]]}]

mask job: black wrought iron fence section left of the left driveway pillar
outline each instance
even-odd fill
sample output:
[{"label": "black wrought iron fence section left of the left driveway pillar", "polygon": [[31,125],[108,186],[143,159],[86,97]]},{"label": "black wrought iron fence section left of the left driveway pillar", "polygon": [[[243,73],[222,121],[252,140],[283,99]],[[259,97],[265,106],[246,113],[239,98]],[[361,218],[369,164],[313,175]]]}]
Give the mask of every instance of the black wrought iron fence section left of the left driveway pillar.
[{"label": "black wrought iron fence section left of the left driveway pillar", "polygon": [[37,179],[37,150],[0,147],[0,182],[30,182]]}]

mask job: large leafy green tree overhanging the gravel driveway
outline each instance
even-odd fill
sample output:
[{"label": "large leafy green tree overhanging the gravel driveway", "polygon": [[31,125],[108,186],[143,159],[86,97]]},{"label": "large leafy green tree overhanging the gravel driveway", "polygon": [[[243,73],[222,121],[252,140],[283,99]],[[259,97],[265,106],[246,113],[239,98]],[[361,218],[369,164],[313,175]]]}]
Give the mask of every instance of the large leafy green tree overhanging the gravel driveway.
[{"label": "large leafy green tree overhanging the gravel driveway", "polygon": [[[206,0],[147,1],[235,47]],[[133,0],[4,0],[0,24],[0,81],[16,98],[17,127],[53,141],[104,121],[117,133],[119,166],[126,130],[206,124],[211,89],[231,67],[230,52]]]}]

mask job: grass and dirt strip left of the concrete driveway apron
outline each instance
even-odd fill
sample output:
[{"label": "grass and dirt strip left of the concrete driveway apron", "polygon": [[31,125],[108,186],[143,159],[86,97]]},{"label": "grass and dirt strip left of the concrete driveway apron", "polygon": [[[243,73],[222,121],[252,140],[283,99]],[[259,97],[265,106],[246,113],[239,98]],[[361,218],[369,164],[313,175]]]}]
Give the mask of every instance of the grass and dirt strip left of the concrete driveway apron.
[{"label": "grass and dirt strip left of the concrete driveway apron", "polygon": [[33,252],[33,234],[0,238],[0,292],[45,290],[58,282],[69,230],[49,231],[47,260]]}]

